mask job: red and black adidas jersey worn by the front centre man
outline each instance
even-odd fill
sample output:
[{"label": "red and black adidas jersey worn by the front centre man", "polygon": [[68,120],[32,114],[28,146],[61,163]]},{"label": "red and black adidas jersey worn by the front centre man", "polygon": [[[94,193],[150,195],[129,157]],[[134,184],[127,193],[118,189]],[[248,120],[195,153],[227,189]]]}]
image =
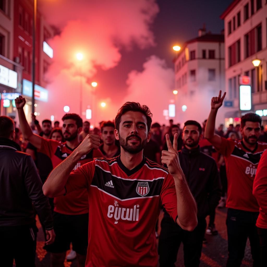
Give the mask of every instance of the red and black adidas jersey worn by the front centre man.
[{"label": "red and black adidas jersey worn by the front centre man", "polygon": [[143,158],[128,170],[120,156],[99,158],[72,172],[66,193],[86,188],[89,198],[85,266],[157,266],[155,224],[163,206],[176,221],[173,177]]}]

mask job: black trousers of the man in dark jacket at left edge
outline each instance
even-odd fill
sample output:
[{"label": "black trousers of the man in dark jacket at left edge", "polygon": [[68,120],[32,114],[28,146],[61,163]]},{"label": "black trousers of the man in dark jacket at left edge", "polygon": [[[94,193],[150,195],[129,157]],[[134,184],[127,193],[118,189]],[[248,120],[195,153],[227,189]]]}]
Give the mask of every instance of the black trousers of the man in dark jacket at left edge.
[{"label": "black trousers of the man in dark jacket at left edge", "polygon": [[5,227],[4,231],[0,227],[0,265],[12,267],[13,259],[15,259],[16,267],[34,267],[37,232],[38,229],[35,225],[10,226]]}]

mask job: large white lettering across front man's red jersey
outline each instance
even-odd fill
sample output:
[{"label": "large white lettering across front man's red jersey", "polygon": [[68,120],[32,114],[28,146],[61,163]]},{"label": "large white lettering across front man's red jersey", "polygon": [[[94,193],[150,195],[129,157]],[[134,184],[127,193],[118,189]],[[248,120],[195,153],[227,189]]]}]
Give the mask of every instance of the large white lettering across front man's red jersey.
[{"label": "large white lettering across front man's red jersey", "polygon": [[[112,218],[114,215],[115,224],[118,223],[119,219],[124,221],[138,221],[139,220],[139,205],[134,205],[133,209],[126,209],[118,207],[117,201],[114,201],[114,205],[108,206],[108,218]],[[114,213],[114,214],[113,214]]]}]

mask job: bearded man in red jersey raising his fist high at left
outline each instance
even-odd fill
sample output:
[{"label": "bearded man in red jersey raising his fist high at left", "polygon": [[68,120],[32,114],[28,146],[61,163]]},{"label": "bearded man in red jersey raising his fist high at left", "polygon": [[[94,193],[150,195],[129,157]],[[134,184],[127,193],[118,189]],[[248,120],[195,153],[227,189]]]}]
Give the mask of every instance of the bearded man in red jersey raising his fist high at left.
[{"label": "bearded man in red jersey raising his fist high at left", "polygon": [[[21,131],[26,140],[29,140],[38,150],[50,157],[53,168],[66,159],[80,144],[78,134],[82,130],[83,121],[77,114],[65,114],[62,118],[62,132],[65,143],[56,140],[44,139],[32,132],[23,111],[25,99],[19,96],[15,99],[18,110]],[[73,170],[84,163],[90,162],[93,158],[103,156],[100,150],[88,151],[81,155],[73,166]],[[51,252],[51,264],[53,267],[63,266],[66,251],[72,242],[73,251],[76,251],[79,266],[84,266],[88,246],[88,196],[85,189],[74,191],[67,196],[54,198],[54,231],[55,242],[46,246],[45,249]]]}]

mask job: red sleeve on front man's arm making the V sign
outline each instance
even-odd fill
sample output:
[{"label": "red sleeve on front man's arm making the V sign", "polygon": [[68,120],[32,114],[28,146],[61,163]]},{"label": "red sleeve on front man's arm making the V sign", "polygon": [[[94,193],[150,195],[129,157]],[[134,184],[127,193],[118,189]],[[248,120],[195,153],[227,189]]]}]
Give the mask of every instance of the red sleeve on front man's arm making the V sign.
[{"label": "red sleeve on front man's arm making the V sign", "polygon": [[176,222],[177,218],[177,197],[174,179],[170,174],[164,179],[161,193],[160,193],[161,205],[165,208],[167,213],[174,219]]}]

